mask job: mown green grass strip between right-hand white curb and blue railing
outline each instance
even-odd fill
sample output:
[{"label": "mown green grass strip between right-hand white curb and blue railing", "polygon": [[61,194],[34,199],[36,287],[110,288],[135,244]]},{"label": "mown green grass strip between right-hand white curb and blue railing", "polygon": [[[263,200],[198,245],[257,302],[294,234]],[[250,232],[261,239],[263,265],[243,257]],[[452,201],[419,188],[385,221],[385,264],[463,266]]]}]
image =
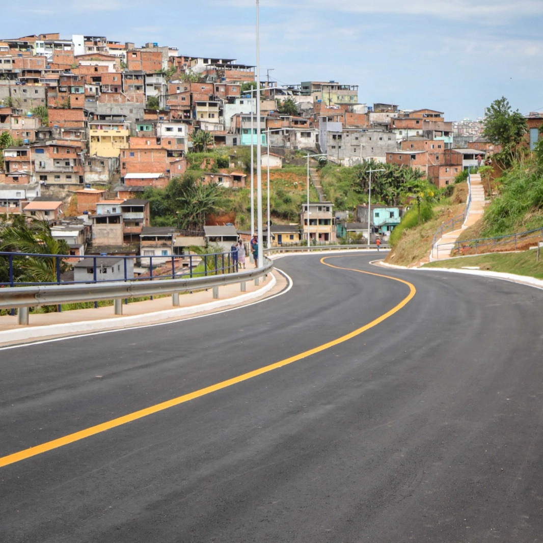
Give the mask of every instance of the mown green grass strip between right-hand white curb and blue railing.
[{"label": "mown green grass strip between right-hand white curb and blue railing", "polygon": [[529,250],[451,258],[450,260],[424,264],[424,268],[460,269],[466,266],[478,266],[482,270],[501,271],[543,279],[543,255],[540,256],[539,262],[536,262],[536,252]]}]

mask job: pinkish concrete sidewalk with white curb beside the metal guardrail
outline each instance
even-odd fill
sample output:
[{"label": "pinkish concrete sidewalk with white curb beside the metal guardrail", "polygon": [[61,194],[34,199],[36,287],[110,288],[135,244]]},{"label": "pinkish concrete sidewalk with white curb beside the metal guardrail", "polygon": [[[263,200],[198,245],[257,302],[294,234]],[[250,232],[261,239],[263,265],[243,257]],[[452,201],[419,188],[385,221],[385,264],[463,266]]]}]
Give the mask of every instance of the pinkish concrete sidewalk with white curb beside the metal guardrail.
[{"label": "pinkish concrete sidewalk with white curb beside the metal guardrail", "polygon": [[[248,263],[247,268],[254,268],[254,265]],[[16,316],[3,315],[0,317],[0,346],[181,320],[247,305],[277,294],[286,286],[285,277],[275,270],[267,280],[261,277],[258,286],[254,281],[245,282],[246,292],[241,292],[239,283],[219,287],[219,298],[216,300],[213,299],[212,289],[181,294],[179,307],[174,307],[172,296],[167,295],[155,300],[123,304],[122,315],[115,315],[112,305],[61,313],[31,313],[28,326],[18,325]]]}]

